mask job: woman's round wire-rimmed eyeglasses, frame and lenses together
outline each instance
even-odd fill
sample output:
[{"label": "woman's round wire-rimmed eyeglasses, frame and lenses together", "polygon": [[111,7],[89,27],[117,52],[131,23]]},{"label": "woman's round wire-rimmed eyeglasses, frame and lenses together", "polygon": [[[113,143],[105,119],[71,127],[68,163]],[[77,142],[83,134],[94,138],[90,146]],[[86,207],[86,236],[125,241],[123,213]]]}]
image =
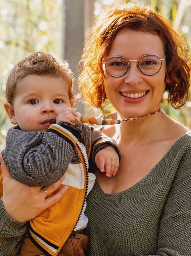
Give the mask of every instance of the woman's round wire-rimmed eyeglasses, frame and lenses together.
[{"label": "woman's round wire-rimmed eyeglasses, frame and lenses together", "polygon": [[[166,58],[167,56],[165,56]],[[139,60],[127,60],[121,56],[110,57],[102,62],[103,69],[113,77],[125,75],[130,66],[129,62],[138,62],[139,70],[147,76],[157,74],[162,66],[162,60],[158,55],[147,54],[139,58]]]}]

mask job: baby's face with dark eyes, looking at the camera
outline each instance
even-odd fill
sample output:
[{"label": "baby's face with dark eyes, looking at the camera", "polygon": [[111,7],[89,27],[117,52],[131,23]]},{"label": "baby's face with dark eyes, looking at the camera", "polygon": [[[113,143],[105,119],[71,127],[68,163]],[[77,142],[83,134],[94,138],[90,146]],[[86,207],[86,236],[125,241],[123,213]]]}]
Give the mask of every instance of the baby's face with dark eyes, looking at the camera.
[{"label": "baby's face with dark eyes, looking at the camera", "polygon": [[47,131],[50,120],[71,107],[68,84],[61,77],[28,75],[16,84],[15,120],[23,131]]}]

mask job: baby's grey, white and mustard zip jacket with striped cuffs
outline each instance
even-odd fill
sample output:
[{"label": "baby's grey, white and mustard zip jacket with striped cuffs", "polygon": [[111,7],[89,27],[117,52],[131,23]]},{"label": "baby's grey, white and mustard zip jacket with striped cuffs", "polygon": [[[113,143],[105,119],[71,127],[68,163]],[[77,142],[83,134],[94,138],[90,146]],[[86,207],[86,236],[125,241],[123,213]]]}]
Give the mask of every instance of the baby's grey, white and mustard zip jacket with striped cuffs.
[{"label": "baby's grey, white and mustard zip jacket with striped cuffs", "polygon": [[87,161],[93,170],[95,154],[109,145],[120,156],[115,141],[83,123],[53,124],[46,133],[22,131],[18,126],[8,131],[2,156],[13,178],[30,186],[48,186],[66,175],[58,188],[68,186],[63,198],[28,222],[31,241],[45,255],[56,256],[76,227],[86,200]]}]

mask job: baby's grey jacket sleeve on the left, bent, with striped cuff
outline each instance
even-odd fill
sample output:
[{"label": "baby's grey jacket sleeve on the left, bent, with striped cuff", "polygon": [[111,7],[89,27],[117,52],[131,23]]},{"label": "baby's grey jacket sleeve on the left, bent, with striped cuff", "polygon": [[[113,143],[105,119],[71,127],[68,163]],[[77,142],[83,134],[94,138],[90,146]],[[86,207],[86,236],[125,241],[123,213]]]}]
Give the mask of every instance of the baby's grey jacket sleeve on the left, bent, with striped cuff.
[{"label": "baby's grey jacket sleeve on the left, bent, with striped cuff", "polygon": [[66,172],[80,133],[66,122],[51,125],[46,133],[12,129],[2,156],[15,180],[29,186],[48,186]]}]

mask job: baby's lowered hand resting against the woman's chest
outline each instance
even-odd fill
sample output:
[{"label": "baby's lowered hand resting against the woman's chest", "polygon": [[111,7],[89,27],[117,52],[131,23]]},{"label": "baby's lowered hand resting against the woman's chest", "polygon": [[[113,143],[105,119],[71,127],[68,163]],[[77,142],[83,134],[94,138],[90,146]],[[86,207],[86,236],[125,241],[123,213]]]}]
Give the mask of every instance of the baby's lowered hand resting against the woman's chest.
[{"label": "baby's lowered hand resting against the woman's chest", "polygon": [[95,163],[101,172],[105,172],[107,177],[115,176],[119,167],[119,156],[112,146],[105,147],[97,152]]}]

